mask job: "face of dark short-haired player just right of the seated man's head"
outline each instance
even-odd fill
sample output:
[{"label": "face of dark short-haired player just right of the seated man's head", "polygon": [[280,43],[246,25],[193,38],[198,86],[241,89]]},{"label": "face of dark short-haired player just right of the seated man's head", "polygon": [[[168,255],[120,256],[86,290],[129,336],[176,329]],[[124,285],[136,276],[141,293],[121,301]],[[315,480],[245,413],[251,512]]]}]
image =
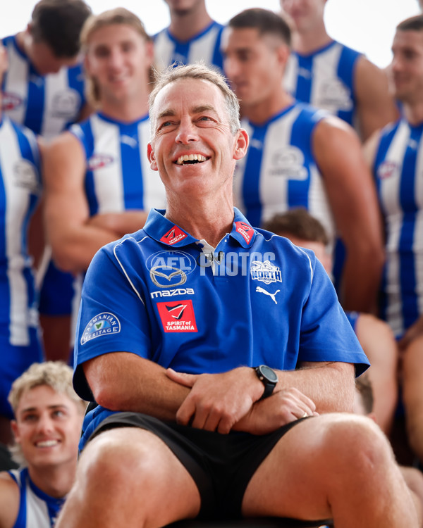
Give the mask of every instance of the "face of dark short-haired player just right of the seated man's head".
[{"label": "face of dark short-haired player just right of the seated man's head", "polygon": [[266,103],[281,91],[288,46],[253,27],[228,27],[223,37],[223,68],[243,108]]}]

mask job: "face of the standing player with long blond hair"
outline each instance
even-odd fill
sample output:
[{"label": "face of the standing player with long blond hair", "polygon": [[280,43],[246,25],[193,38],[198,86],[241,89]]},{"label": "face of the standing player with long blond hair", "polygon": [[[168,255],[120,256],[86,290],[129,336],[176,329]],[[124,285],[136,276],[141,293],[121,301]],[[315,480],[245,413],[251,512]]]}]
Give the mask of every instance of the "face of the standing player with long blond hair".
[{"label": "face of the standing player with long blond hair", "polygon": [[151,43],[130,25],[106,25],[90,36],[85,68],[99,86],[100,99],[121,101],[145,92],[151,63]]}]

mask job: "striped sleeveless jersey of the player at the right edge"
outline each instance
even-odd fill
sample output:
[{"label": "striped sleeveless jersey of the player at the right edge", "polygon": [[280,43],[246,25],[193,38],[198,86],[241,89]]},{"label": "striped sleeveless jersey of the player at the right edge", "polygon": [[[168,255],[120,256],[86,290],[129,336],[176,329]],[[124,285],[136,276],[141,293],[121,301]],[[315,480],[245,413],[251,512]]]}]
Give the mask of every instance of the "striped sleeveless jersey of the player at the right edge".
[{"label": "striped sleeveless jersey of the player at the right edge", "polygon": [[397,337],[423,314],[422,134],[405,119],[386,126],[374,163],[386,228],[381,317]]}]

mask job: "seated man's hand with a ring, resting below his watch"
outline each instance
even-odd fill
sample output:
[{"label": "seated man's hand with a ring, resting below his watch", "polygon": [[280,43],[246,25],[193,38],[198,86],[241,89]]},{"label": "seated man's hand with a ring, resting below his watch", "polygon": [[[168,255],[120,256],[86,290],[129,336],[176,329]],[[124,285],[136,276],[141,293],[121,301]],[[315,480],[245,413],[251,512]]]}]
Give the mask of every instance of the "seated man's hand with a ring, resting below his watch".
[{"label": "seated man's hand with a ring, resting below his watch", "polygon": [[306,413],[307,416],[319,415],[314,402],[295,387],[291,387],[257,401],[233,429],[252,434],[268,434],[305,417]]}]

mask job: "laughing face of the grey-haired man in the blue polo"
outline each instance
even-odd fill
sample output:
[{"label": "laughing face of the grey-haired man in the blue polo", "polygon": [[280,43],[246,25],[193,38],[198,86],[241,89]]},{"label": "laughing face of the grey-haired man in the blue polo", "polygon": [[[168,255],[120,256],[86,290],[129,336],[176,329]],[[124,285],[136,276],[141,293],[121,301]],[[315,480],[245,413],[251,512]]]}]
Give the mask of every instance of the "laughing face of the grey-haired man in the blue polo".
[{"label": "laughing face of the grey-haired man in the blue polo", "polygon": [[148,156],[168,198],[210,196],[222,186],[231,191],[247,136],[232,134],[221,90],[206,80],[180,79],[157,94],[153,111]]}]

